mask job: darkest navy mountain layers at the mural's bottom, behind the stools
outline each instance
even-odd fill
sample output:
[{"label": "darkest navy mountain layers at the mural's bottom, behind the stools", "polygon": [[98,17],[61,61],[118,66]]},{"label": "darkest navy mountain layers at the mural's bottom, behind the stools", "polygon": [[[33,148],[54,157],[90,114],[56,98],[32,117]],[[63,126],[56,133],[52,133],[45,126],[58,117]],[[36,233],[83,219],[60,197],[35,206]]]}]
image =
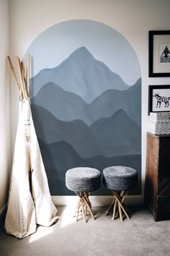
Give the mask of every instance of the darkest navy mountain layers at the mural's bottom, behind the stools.
[{"label": "darkest navy mountain layers at the mural's bottom, behind the stools", "polygon": [[[66,142],[55,142],[49,145],[39,140],[42,159],[48,176],[51,195],[74,195],[66,188],[65,175],[69,168],[77,166],[97,168],[101,171],[107,166],[130,166],[139,171],[138,187],[131,194],[139,195],[141,192],[141,155],[124,155],[112,158],[106,158],[101,155],[92,158],[81,158],[76,150]],[[93,195],[111,195],[109,189],[103,185]]]}]

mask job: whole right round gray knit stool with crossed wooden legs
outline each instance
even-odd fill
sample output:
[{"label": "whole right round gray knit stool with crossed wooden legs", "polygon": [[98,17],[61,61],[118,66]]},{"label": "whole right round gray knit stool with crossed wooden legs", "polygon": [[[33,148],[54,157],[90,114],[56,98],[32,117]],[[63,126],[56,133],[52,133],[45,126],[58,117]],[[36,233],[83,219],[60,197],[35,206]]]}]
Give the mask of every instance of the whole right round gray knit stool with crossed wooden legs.
[{"label": "whole right round gray knit stool with crossed wooden legs", "polygon": [[109,213],[109,210],[113,207],[113,220],[119,215],[120,220],[122,221],[122,213],[125,213],[125,216],[130,219],[124,201],[128,190],[133,189],[137,183],[138,171],[133,168],[126,166],[111,166],[104,168],[103,184],[105,187],[111,189],[112,194],[114,195],[114,199],[105,213],[106,216]]}]

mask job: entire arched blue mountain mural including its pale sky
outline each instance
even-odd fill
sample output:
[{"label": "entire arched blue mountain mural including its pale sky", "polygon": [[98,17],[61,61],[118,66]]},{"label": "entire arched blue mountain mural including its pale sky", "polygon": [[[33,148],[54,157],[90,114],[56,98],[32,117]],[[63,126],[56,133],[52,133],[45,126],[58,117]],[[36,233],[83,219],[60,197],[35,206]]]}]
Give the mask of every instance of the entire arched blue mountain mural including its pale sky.
[{"label": "entire arched blue mountain mural including its pale sky", "polygon": [[[69,168],[130,166],[141,190],[141,73],[130,43],[112,27],[70,20],[28,48],[31,106],[51,195],[73,195]],[[26,54],[27,55],[27,54]],[[110,195],[102,186],[93,195]]]}]

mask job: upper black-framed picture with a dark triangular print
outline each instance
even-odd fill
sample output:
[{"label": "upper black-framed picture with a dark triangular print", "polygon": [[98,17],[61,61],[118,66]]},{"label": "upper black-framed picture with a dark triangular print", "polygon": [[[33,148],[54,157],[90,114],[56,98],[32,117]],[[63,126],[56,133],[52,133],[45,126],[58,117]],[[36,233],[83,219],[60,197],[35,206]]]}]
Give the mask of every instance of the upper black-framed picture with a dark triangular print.
[{"label": "upper black-framed picture with a dark triangular print", "polygon": [[170,30],[149,31],[149,77],[170,77]]}]

